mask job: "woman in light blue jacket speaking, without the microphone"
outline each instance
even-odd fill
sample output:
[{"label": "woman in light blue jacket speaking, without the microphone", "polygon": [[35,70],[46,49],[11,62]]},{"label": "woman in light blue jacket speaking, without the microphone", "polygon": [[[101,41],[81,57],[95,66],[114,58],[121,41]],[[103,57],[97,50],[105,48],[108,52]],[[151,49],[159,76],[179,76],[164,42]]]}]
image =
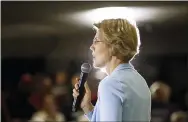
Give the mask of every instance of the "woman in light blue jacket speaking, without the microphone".
[{"label": "woman in light blue jacket speaking, without the microphone", "polygon": [[[138,53],[138,28],[126,19],[106,19],[94,24],[96,35],[90,49],[93,66],[107,73],[98,87],[98,100],[91,104],[91,92],[81,103],[90,121],[150,121],[151,94],[145,79],[130,61]],[[79,95],[78,84],[73,96]]]}]

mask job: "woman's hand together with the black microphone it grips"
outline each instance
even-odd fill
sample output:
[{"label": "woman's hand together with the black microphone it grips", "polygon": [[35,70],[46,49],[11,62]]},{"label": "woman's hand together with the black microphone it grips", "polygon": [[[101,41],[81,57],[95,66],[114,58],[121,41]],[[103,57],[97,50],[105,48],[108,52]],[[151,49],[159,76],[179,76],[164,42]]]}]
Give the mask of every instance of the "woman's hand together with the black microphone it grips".
[{"label": "woman's hand together with the black microphone it grips", "polygon": [[80,78],[76,79],[78,83],[75,84],[75,88],[73,89],[74,101],[72,111],[75,112],[78,107],[81,107],[85,113],[88,113],[93,109],[91,104],[91,91],[86,82],[88,73],[91,70],[90,64],[84,63],[81,66],[81,70]]}]

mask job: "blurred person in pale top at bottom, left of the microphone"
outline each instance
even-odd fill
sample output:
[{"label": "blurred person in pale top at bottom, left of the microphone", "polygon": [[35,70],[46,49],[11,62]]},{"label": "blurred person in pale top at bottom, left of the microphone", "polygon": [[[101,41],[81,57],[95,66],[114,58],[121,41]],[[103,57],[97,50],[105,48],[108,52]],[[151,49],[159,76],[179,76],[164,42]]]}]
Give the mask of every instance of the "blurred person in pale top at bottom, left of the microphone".
[{"label": "blurred person in pale top at bottom, left of the microphone", "polygon": [[42,109],[36,112],[31,121],[36,122],[62,122],[65,121],[65,117],[57,110],[54,95],[52,93],[46,93],[43,96]]}]

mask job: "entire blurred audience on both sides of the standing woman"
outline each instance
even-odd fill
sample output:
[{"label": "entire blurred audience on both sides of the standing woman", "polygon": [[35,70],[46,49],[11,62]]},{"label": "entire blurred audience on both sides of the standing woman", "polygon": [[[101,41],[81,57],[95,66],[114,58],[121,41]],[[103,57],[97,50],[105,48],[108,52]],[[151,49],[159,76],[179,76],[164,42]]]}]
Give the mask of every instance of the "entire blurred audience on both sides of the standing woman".
[{"label": "entire blurred audience on both sides of the standing woman", "polygon": [[[87,121],[81,110],[71,112],[76,77],[79,73],[69,77],[66,71],[53,75],[23,74],[17,88],[2,91],[2,121]],[[188,122],[187,109],[182,110],[180,105],[170,102],[172,89],[169,85],[156,81],[150,90],[152,122]],[[187,97],[188,94],[185,100]],[[96,100],[96,92],[93,92],[92,103],[95,104]]]}]

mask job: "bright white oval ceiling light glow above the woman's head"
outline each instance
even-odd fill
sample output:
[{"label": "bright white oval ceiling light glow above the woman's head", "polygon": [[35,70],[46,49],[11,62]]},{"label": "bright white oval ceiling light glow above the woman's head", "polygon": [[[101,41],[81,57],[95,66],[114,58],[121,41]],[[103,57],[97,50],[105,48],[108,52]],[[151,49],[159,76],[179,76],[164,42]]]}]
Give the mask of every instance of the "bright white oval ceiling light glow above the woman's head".
[{"label": "bright white oval ceiling light glow above the woman's head", "polygon": [[68,13],[65,16],[59,16],[59,19],[72,22],[76,25],[91,26],[95,22],[99,22],[103,19],[112,18],[126,18],[132,24],[135,20],[138,24],[148,21],[164,21],[167,18],[172,18],[175,15],[184,14],[186,8],[180,7],[174,9],[174,7],[104,7],[96,8],[87,11]]}]

